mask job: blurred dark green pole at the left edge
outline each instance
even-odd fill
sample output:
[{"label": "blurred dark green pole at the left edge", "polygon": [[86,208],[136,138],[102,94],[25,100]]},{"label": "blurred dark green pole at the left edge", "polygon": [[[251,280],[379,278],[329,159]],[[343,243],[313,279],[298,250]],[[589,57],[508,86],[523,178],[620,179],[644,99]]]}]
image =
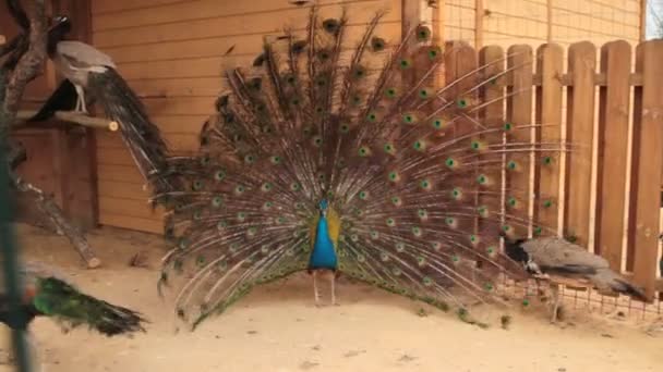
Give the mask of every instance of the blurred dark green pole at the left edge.
[{"label": "blurred dark green pole at the left edge", "polygon": [[2,249],[2,264],[4,272],[4,285],[9,299],[10,324],[12,324],[12,344],[16,356],[16,368],[19,372],[31,372],[27,357],[27,345],[25,344],[25,314],[20,311],[21,302],[21,278],[19,276],[19,259],[15,251],[16,239],[12,228],[13,200],[10,198],[9,164],[5,153],[9,145],[9,127],[4,112],[4,87],[5,71],[0,70],[0,249]]}]

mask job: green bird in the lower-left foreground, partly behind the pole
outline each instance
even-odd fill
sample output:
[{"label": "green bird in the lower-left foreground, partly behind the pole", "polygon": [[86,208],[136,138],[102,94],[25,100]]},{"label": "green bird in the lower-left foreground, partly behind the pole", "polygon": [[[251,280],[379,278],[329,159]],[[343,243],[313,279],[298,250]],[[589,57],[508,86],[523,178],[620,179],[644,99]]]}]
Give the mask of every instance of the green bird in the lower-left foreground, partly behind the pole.
[{"label": "green bird in the lower-left foreground, partly behind the pole", "polygon": [[10,319],[8,296],[0,283],[0,322],[12,328],[26,328],[35,318],[47,317],[65,328],[85,324],[106,336],[145,332],[146,320],[138,312],[79,292],[50,268],[26,262],[20,274],[25,290],[19,323]]}]

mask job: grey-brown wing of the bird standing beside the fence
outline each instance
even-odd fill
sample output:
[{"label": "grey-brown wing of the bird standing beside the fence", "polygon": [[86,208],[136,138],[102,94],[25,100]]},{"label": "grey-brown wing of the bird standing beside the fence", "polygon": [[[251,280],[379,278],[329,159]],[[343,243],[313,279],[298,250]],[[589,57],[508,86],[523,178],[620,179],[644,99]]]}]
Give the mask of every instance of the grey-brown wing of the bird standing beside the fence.
[{"label": "grey-brown wing of the bird standing beside the fence", "polygon": [[522,248],[544,272],[592,274],[608,268],[604,258],[557,237],[531,239],[523,243]]}]

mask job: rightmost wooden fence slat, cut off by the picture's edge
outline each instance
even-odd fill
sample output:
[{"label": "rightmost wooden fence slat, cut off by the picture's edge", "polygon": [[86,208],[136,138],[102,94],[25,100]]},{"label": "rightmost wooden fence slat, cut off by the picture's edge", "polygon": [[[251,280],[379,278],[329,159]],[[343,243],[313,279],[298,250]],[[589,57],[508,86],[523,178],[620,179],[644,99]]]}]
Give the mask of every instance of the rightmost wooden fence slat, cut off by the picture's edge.
[{"label": "rightmost wooden fence slat, cut off by the picture's edge", "polygon": [[634,168],[629,237],[634,243],[634,281],[652,299],[656,280],[663,166],[663,40],[636,48],[636,73],[642,74],[634,101]]}]

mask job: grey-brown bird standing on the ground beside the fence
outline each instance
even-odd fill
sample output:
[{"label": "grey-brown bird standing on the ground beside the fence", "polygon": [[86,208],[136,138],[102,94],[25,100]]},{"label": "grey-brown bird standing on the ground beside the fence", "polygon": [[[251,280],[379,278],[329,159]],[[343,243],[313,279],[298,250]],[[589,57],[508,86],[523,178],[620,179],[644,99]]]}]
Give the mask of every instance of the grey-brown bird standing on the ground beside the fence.
[{"label": "grey-brown bird standing on the ground beside the fence", "polygon": [[[589,282],[599,293],[624,294],[647,301],[642,289],[630,284],[628,280],[610,269],[607,260],[583,247],[559,237],[540,237],[534,239],[513,239],[503,233],[505,252],[513,260],[535,276],[565,277]],[[551,285],[553,293],[553,314],[551,322],[557,320],[559,296],[557,286]]]}]

